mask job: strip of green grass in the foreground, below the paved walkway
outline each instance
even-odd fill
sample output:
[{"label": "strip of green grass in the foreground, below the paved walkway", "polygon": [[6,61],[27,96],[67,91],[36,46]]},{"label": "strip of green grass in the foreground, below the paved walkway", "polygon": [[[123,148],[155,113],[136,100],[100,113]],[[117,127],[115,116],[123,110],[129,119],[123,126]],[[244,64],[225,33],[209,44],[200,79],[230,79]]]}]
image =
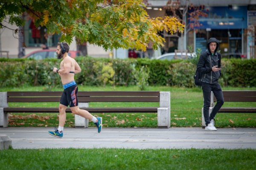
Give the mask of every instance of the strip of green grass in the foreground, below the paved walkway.
[{"label": "strip of green grass in the foreground, below the paved walkway", "polygon": [[252,149],[40,149],[0,151],[1,170],[255,170]]}]

